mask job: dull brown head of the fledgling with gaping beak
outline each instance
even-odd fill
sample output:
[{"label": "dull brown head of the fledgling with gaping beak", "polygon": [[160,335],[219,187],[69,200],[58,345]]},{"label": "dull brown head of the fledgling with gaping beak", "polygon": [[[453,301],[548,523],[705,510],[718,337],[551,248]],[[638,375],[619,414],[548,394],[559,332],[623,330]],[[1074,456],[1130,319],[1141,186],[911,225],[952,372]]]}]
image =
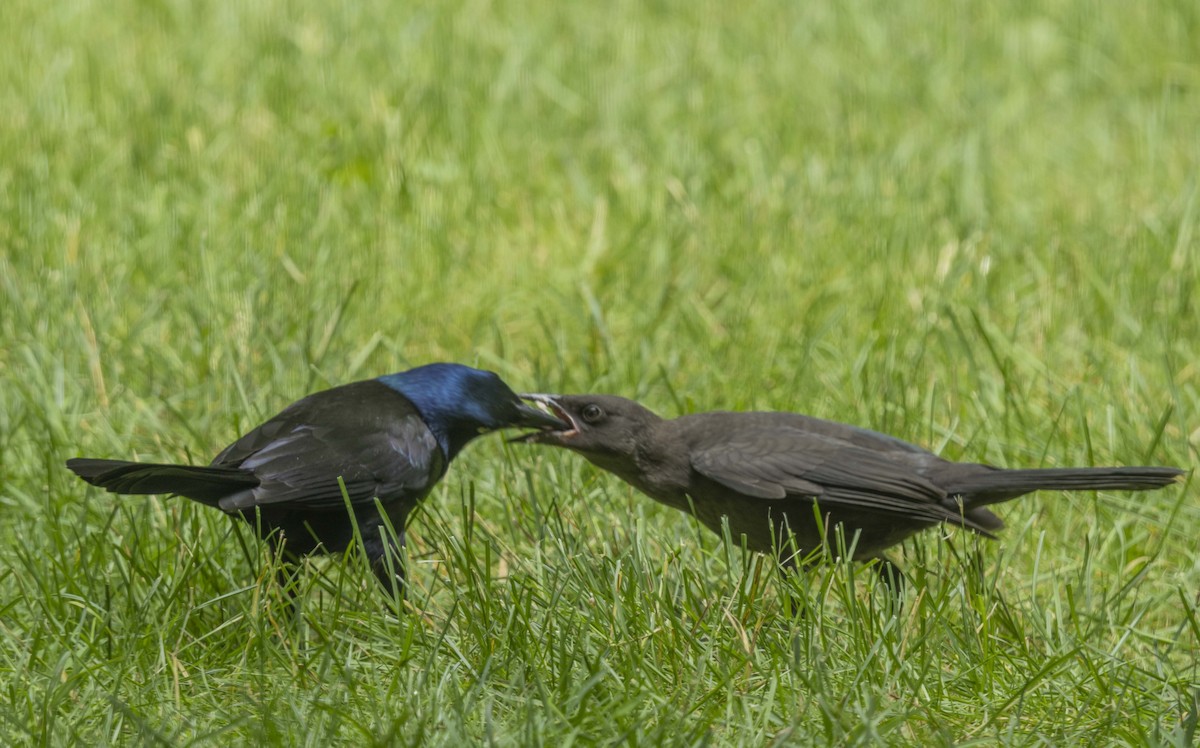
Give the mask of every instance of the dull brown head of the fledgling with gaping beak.
[{"label": "dull brown head of the fledgling with gaping beak", "polygon": [[527,433],[511,441],[565,447],[601,467],[607,467],[611,460],[631,457],[643,429],[661,420],[632,400],[616,395],[521,396],[570,425]]}]

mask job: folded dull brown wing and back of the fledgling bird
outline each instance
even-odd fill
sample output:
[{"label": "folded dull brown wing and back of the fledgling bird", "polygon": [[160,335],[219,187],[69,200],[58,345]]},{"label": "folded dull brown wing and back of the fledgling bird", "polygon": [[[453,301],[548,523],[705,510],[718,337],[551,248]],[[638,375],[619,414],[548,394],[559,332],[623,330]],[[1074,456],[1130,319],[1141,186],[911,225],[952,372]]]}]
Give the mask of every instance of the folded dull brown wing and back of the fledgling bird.
[{"label": "folded dull brown wing and back of the fledgling bird", "polygon": [[[733,415],[733,414],[730,414]],[[826,509],[874,511],[922,522],[964,523],[946,491],[918,472],[940,459],[905,449],[880,450],[840,435],[788,423],[787,414],[743,414],[691,429],[691,466],[738,493],[761,499],[815,498]],[[780,418],[773,418],[773,417]],[[870,433],[870,432],[866,432]],[[698,436],[698,438],[697,438]],[[970,517],[965,523],[974,527]]]}]

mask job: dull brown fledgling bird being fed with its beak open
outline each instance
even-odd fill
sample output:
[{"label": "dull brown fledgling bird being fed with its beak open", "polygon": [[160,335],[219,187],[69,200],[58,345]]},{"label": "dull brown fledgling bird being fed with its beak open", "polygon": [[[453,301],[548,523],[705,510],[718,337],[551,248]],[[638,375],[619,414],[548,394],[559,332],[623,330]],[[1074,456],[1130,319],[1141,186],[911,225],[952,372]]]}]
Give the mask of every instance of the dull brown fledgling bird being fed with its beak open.
[{"label": "dull brown fledgling bird being fed with its beak open", "polygon": [[840,525],[853,556],[880,558],[890,582],[901,578],[883,551],[928,527],[944,522],[994,538],[1003,522],[990,504],[1038,490],[1158,489],[1184,474],[1174,467],[1000,469],[796,413],[667,420],[611,395],[522,397],[570,427],[512,441],[577,451],[714,532],[727,517],[734,540],[744,535],[748,549],[775,553],[785,569],[832,545]]}]

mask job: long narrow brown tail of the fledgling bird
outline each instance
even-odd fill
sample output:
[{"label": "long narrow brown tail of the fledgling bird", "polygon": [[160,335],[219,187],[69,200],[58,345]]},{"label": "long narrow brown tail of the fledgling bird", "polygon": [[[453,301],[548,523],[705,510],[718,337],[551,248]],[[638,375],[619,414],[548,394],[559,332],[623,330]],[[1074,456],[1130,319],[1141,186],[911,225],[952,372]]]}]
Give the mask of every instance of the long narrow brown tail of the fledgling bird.
[{"label": "long narrow brown tail of the fledgling bird", "polygon": [[[980,466],[982,467],[982,466]],[[1051,467],[972,471],[946,485],[968,508],[986,507],[1031,491],[1148,491],[1181,483],[1176,467]]]}]

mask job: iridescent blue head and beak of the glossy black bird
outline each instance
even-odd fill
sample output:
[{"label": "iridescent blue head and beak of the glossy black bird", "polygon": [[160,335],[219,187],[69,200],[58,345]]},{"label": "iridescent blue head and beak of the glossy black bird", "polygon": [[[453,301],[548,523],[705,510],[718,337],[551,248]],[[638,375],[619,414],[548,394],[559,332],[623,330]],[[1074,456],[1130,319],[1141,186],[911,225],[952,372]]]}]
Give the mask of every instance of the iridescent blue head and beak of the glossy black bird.
[{"label": "iridescent blue head and beak of the glossy black bird", "polygon": [[461,364],[427,364],[379,381],[408,397],[451,460],[467,442],[497,429],[570,427],[526,405],[491,371]]}]

